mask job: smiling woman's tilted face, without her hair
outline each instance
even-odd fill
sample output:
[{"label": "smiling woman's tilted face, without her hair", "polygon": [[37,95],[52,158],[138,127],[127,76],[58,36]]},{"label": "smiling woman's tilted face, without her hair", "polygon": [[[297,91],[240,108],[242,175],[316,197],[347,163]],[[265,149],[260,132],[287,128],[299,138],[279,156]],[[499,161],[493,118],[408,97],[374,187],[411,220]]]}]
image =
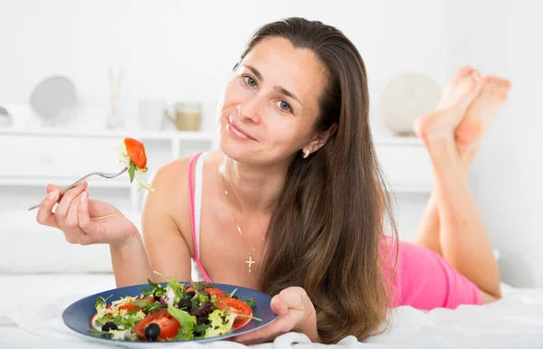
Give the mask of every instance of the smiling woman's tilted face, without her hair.
[{"label": "smiling woman's tilted face, without her hair", "polygon": [[326,71],[308,49],[271,37],[238,66],[218,106],[219,144],[243,164],[291,161],[300,149],[317,150],[314,123]]}]

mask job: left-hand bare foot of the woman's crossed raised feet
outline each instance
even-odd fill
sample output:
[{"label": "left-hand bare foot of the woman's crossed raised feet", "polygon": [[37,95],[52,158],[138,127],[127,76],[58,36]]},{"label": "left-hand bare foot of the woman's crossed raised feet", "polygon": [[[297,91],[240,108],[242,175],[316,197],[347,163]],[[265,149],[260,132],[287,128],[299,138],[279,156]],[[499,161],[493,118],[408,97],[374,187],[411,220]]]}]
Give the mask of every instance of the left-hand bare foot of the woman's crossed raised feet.
[{"label": "left-hand bare foot of the woman's crossed raised feet", "polygon": [[456,72],[443,94],[443,99],[433,112],[419,118],[414,125],[415,134],[424,143],[443,139],[454,141],[454,130],[481,90],[481,74],[471,67],[462,67]]}]

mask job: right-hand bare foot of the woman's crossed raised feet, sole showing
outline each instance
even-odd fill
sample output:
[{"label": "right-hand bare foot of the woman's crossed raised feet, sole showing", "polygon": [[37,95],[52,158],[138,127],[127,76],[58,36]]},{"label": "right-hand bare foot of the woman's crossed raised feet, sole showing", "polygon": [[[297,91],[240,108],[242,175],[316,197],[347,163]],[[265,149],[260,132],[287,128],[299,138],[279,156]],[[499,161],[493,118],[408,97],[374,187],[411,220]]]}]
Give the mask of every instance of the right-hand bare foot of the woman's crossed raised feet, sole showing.
[{"label": "right-hand bare foot of the woman's crossed raised feet, sole showing", "polygon": [[456,128],[456,142],[461,152],[479,146],[484,132],[503,107],[510,90],[509,80],[485,76],[479,95],[473,99],[460,125]]}]

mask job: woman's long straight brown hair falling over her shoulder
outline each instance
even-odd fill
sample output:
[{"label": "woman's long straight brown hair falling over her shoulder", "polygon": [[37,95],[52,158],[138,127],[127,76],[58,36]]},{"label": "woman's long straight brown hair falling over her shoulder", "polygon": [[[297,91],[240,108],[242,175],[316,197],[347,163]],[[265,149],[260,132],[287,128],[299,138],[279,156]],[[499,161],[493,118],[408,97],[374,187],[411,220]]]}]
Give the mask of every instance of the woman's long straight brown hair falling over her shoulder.
[{"label": "woman's long straight brown hair falling over her shoulder", "polygon": [[328,72],[314,127],[338,123],[338,129],[289,168],[271,215],[260,287],[271,295],[304,288],[324,343],[346,335],[363,340],[383,328],[389,304],[380,268],[385,212],[397,236],[369,125],[366,67],[338,29],[303,18],[264,25],[241,59],[267,37],[314,52]]}]

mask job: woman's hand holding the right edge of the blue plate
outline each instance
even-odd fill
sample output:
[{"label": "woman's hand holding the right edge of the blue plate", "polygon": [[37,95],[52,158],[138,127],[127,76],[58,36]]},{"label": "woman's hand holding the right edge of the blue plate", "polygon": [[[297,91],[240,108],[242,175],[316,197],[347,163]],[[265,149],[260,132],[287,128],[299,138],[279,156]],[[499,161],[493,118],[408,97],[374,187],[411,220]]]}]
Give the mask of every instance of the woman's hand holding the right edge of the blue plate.
[{"label": "woman's hand holding the right edge of the blue plate", "polygon": [[271,298],[271,310],[279,317],[246,335],[239,335],[235,341],[243,344],[271,342],[275,337],[288,332],[300,332],[307,335],[311,342],[319,342],[317,332],[317,314],[306,291],[303,288],[285,288]]}]

